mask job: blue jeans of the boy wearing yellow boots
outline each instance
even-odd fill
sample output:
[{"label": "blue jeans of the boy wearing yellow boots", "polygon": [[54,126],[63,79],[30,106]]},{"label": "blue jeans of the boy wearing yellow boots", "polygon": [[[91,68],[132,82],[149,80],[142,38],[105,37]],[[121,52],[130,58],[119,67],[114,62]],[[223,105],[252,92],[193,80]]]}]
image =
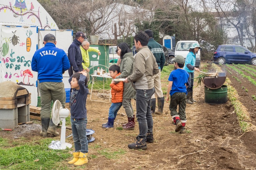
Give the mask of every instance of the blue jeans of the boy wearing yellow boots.
[{"label": "blue jeans of the boy wearing yellow boots", "polygon": [[88,153],[88,140],[86,137],[87,119],[70,119],[75,145],[75,152]]}]

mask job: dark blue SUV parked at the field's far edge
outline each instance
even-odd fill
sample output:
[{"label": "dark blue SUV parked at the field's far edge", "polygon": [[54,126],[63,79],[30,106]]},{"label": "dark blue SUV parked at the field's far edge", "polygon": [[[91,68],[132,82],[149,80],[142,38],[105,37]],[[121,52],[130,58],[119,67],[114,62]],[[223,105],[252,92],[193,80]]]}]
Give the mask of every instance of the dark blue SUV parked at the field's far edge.
[{"label": "dark blue SUV parked at the field's far edge", "polygon": [[219,64],[251,63],[256,65],[256,53],[241,45],[218,45],[213,53],[213,60]]}]

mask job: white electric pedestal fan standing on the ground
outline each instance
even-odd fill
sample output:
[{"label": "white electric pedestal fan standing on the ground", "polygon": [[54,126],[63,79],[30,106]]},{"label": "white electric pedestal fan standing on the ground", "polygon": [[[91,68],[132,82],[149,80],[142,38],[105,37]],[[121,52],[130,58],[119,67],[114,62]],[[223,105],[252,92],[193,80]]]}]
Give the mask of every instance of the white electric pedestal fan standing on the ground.
[{"label": "white electric pedestal fan standing on the ground", "polygon": [[58,126],[60,121],[62,121],[61,133],[60,133],[60,143],[61,149],[66,149],[66,147],[71,148],[72,145],[65,141],[66,139],[66,117],[69,116],[69,110],[64,109],[59,100],[56,100],[52,106],[52,122]]}]

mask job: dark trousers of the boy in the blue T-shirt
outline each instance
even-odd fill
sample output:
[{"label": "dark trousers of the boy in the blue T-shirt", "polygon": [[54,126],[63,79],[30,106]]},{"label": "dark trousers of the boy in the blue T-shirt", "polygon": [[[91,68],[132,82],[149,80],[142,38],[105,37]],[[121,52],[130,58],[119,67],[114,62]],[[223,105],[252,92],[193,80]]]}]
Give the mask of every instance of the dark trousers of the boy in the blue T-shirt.
[{"label": "dark trousers of the boy in the blue T-shirt", "polygon": [[[177,106],[179,105],[179,113],[177,112]],[[169,109],[171,111],[172,118],[179,116],[180,120],[186,120],[186,93],[176,92],[171,96]]]}]

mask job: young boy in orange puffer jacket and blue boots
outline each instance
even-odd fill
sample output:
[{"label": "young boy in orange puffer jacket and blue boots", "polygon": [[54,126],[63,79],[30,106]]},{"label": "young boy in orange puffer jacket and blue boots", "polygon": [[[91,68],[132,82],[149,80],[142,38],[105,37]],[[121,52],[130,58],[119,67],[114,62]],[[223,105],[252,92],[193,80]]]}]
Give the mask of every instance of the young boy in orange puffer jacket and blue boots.
[{"label": "young boy in orange puffer jacket and blue boots", "polygon": [[[110,76],[115,79],[116,76],[119,76],[120,73],[120,67],[116,64],[111,65],[109,67],[109,73]],[[117,84],[114,84],[114,80],[112,80],[110,87],[111,87],[111,106],[109,108],[108,112],[108,122],[106,124],[102,125],[102,128],[113,128],[114,127],[114,120],[116,118],[117,112],[122,106],[123,101],[123,91],[124,91],[124,83],[123,81],[118,82]]]}]

